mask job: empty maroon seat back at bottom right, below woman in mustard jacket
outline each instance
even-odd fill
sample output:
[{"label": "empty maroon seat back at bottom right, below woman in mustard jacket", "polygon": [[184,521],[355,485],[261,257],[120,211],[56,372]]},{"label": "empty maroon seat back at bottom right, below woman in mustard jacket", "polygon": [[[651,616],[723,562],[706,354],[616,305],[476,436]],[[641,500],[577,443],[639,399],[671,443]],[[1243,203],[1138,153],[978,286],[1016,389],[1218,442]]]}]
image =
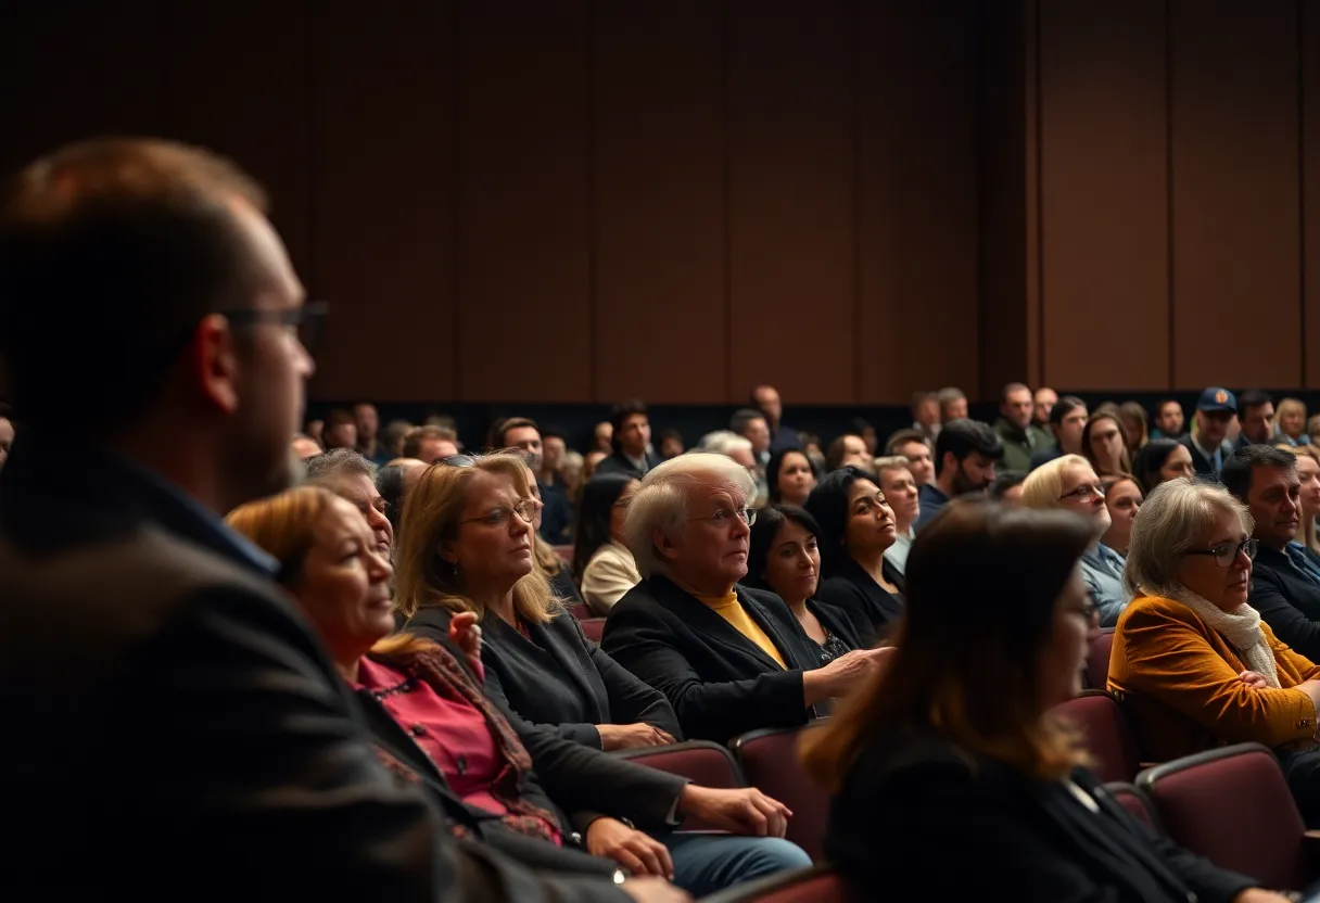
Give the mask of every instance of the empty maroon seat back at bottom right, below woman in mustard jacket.
[{"label": "empty maroon seat back at bottom right, below woman in mustard jacket", "polygon": [[1279,760],[1239,743],[1155,766],[1137,778],[1173,841],[1265,887],[1311,883],[1305,825]]}]

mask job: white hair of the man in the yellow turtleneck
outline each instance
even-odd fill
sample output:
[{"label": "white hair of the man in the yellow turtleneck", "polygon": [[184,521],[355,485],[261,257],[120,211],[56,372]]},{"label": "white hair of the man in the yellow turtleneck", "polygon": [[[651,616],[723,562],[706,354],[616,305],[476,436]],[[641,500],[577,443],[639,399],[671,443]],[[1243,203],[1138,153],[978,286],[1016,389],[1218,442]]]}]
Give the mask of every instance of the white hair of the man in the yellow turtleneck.
[{"label": "white hair of the man in the yellow turtleneck", "polygon": [[652,469],[628,503],[623,521],[623,535],[643,577],[667,572],[655,533],[675,532],[688,523],[688,502],[696,490],[729,492],[734,504],[746,504],[756,495],[756,483],[741,463],[709,452],[680,454]]}]

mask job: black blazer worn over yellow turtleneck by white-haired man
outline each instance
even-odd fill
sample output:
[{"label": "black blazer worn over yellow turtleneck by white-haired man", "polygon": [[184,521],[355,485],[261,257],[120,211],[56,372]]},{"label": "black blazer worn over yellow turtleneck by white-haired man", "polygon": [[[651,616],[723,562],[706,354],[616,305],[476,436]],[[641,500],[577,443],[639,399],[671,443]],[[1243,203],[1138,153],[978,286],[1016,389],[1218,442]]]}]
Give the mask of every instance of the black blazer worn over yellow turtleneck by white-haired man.
[{"label": "black blazer worn over yellow turtleneck by white-haired man", "polygon": [[803,672],[820,667],[816,644],[774,593],[737,593],[788,671],[665,577],[624,593],[605,622],[601,648],[668,697],[688,739],[723,743],[760,727],[803,725],[810,713]]}]

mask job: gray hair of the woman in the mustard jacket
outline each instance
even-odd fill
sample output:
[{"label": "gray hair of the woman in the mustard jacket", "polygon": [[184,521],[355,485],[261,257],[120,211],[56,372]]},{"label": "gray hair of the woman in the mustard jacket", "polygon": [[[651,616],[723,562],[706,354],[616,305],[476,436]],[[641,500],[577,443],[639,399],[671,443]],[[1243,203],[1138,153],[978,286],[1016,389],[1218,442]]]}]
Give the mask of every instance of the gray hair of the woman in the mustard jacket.
[{"label": "gray hair of the woman in the mustard jacket", "polygon": [[1222,514],[1232,514],[1250,536],[1255,528],[1245,504],[1218,483],[1171,479],[1146,496],[1133,523],[1123,584],[1135,595],[1171,595],[1181,585],[1173,576],[1179,557]]}]

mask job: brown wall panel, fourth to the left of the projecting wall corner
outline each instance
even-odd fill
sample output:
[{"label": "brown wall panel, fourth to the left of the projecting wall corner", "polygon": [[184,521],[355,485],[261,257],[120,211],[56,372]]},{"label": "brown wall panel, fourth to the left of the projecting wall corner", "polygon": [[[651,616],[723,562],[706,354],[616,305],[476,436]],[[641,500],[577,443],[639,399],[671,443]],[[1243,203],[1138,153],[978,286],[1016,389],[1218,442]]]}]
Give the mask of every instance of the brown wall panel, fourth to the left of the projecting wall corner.
[{"label": "brown wall panel, fourth to the left of the projecting wall corner", "polygon": [[458,360],[465,401],[591,397],[586,0],[463,0]]}]

